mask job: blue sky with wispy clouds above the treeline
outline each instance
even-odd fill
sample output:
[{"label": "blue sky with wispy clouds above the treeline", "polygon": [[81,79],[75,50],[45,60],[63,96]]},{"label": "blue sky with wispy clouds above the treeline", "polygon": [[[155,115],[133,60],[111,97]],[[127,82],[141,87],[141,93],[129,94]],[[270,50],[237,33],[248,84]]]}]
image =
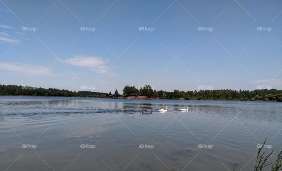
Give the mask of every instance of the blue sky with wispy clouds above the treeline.
[{"label": "blue sky with wispy clouds above the treeline", "polygon": [[1,0],[0,84],[281,89],[281,11],[278,0]]}]

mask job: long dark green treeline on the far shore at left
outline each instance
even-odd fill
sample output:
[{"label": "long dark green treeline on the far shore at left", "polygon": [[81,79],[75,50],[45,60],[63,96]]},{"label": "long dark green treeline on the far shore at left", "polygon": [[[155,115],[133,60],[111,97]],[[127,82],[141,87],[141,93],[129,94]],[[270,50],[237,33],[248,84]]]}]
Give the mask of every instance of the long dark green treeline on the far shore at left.
[{"label": "long dark green treeline on the far shore at left", "polygon": [[21,85],[2,85],[0,84],[0,95],[23,95],[23,96],[63,96],[63,97],[99,97],[108,96],[108,93],[90,91],[71,91],[65,89],[45,89],[41,87],[21,86]]}]

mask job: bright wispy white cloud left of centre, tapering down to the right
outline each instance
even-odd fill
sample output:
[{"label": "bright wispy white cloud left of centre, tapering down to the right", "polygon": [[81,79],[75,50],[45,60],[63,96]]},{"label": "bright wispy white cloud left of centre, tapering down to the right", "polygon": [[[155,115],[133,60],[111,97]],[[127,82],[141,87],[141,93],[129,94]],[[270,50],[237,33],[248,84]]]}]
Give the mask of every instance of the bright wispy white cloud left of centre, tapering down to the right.
[{"label": "bright wispy white cloud left of centre, tapering down to the right", "polygon": [[108,76],[116,76],[107,70],[108,62],[103,60],[101,57],[75,55],[73,58],[68,58],[62,61],[66,64],[86,68],[87,70],[96,73],[103,73]]}]

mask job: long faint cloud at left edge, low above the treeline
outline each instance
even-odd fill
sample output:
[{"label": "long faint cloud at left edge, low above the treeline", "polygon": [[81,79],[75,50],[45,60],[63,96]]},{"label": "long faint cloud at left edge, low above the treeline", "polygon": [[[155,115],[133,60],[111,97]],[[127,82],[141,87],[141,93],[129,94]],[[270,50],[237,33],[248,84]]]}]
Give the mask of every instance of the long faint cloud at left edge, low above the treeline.
[{"label": "long faint cloud at left edge, low above the treeline", "polygon": [[44,72],[44,76],[59,76],[51,69],[43,67],[41,65],[32,65],[21,62],[0,62],[0,70],[6,70],[9,72],[15,72],[17,75],[24,75],[26,77],[41,76]]}]

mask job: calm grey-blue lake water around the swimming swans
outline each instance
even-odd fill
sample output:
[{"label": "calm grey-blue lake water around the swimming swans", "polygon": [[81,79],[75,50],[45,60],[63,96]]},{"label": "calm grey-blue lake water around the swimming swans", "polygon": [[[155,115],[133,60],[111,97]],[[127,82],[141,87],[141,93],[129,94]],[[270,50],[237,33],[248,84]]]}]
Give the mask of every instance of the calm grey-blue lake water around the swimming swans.
[{"label": "calm grey-blue lake water around the swimming swans", "polygon": [[0,109],[7,171],[253,170],[265,138],[282,148],[279,102],[0,96]]}]

